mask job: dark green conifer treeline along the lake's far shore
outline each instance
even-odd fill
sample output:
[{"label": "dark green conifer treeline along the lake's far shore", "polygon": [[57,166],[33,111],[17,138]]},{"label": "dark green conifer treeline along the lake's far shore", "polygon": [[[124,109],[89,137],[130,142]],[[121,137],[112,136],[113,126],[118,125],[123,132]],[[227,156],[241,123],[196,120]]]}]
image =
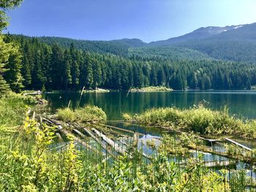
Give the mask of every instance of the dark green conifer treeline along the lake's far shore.
[{"label": "dark green conifer treeline along the lake's far shore", "polygon": [[15,91],[20,91],[22,85],[26,89],[46,90],[80,90],[83,86],[127,90],[149,85],[165,85],[175,90],[220,90],[256,85],[255,64],[207,59],[123,58],[78,50],[73,44],[69,48],[47,45],[37,38],[7,35],[5,39],[20,46],[20,67],[17,62],[15,67],[20,68],[22,80],[18,81],[22,84],[14,85]]}]

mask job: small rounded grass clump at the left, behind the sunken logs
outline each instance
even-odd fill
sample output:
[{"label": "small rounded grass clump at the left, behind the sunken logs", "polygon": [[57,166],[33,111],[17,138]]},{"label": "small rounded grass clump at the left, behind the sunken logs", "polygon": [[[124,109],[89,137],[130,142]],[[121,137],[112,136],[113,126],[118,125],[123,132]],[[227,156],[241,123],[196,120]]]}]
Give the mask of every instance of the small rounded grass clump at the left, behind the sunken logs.
[{"label": "small rounded grass clump at the left, behind the sunken logs", "polygon": [[75,110],[69,108],[60,109],[57,111],[57,116],[59,120],[64,120],[67,122],[91,122],[107,120],[107,115],[99,107],[86,105],[85,107],[80,107]]}]

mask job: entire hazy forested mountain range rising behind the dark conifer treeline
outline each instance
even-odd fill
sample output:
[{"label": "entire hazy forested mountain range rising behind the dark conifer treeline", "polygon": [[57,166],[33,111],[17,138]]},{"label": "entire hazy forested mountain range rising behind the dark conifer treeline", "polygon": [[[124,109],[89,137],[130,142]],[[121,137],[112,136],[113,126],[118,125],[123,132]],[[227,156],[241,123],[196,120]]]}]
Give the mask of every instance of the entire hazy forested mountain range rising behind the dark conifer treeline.
[{"label": "entire hazy forested mountain range rising behind the dark conifer treeline", "polygon": [[256,63],[256,23],[225,27],[202,27],[180,37],[149,43],[140,39],[89,41],[62,37],[36,38],[39,42],[49,45],[58,44],[61,47],[69,47],[72,43],[75,48],[80,50],[111,53],[123,57],[132,55],[149,58],[192,59],[195,57],[197,59],[214,58]]}]

